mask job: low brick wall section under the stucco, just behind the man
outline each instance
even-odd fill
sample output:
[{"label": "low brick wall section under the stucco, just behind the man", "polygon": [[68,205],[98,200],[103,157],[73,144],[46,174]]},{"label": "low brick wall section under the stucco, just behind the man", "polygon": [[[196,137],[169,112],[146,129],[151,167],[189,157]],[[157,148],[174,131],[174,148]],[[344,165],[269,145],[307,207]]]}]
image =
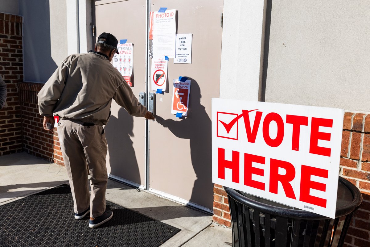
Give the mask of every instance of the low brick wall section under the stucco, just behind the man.
[{"label": "low brick wall section under the stucco, just behind the man", "polygon": [[[37,93],[44,84],[19,83],[24,151],[54,163],[63,164],[57,131],[43,128],[43,117],[38,113]],[[54,156],[53,156],[54,154]]]}]

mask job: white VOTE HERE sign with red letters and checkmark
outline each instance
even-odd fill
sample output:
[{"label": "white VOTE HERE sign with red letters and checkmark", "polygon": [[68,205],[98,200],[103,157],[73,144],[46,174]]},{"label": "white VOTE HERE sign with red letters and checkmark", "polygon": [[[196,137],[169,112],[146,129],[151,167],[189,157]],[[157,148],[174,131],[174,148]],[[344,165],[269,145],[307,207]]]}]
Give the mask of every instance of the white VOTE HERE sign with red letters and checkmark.
[{"label": "white VOTE HERE sign with red letters and checkmark", "polygon": [[213,98],[213,183],[334,218],[343,115]]}]

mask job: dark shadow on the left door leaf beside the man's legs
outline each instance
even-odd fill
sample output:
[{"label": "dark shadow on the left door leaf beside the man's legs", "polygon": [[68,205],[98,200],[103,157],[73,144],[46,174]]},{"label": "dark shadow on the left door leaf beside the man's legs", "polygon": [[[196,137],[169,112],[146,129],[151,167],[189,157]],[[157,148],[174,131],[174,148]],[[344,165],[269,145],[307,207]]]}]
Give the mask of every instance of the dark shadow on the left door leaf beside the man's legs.
[{"label": "dark shadow on the left door leaf beside the man's legs", "polygon": [[134,137],[133,128],[134,118],[122,107],[118,111],[118,117],[111,116],[105,126],[110,174],[141,184],[138,162],[131,140],[131,137]]}]

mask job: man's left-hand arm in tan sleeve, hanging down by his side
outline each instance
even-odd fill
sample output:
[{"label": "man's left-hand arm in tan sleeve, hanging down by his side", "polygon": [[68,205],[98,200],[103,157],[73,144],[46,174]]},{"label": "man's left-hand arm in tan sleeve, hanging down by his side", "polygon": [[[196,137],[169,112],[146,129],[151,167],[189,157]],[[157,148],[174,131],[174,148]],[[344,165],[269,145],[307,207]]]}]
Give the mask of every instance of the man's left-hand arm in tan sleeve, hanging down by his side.
[{"label": "man's left-hand arm in tan sleeve, hanging down by his side", "polygon": [[[50,79],[45,83],[40,92],[37,94],[38,111],[41,116],[44,116],[43,127],[44,130],[54,129],[53,111],[57,104],[67,80],[69,67],[67,66],[70,57],[65,59],[63,63],[58,66]],[[69,63],[70,64],[70,63]],[[48,129],[46,123],[51,123],[51,129]]]}]

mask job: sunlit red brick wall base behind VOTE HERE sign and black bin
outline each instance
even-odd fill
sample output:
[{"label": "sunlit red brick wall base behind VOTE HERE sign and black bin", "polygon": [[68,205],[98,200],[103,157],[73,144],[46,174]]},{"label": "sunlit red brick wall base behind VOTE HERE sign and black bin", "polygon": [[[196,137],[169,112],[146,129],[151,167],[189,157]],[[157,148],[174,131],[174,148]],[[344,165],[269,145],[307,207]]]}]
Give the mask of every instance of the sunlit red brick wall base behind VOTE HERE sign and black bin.
[{"label": "sunlit red brick wall base behind VOTE HERE sign and black bin", "polygon": [[[370,114],[346,112],[343,122],[339,175],[360,189],[363,203],[354,213],[345,245],[370,246]],[[222,186],[215,184],[213,221],[231,227],[228,198]]]}]

